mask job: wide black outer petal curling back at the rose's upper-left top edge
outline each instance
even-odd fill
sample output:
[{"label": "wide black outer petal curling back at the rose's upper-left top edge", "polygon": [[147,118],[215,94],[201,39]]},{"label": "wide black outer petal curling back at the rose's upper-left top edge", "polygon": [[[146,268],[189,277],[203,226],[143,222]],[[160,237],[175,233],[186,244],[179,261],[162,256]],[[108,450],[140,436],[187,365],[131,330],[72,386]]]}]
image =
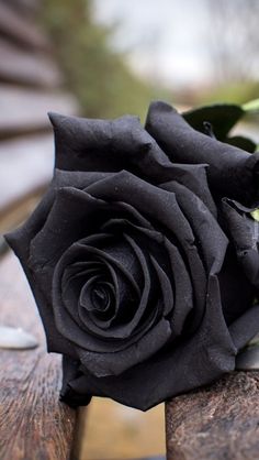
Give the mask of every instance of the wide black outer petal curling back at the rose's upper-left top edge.
[{"label": "wide black outer petal curling back at the rose's upper-left top edge", "polygon": [[67,171],[119,172],[160,177],[170,162],[137,117],[90,120],[50,113],[56,167]]}]

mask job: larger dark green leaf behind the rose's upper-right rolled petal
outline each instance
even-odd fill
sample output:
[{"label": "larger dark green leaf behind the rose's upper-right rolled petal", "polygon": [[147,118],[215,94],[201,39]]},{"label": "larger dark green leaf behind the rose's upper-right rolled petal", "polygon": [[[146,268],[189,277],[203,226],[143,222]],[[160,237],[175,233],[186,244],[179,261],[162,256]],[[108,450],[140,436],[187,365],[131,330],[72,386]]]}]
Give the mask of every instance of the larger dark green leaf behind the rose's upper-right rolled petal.
[{"label": "larger dark green leaf behind the rose's upper-right rolled petal", "polygon": [[212,124],[219,141],[225,141],[230,129],[244,117],[243,107],[234,103],[216,103],[192,109],[182,113],[187,122],[198,131],[204,132],[204,121]]}]

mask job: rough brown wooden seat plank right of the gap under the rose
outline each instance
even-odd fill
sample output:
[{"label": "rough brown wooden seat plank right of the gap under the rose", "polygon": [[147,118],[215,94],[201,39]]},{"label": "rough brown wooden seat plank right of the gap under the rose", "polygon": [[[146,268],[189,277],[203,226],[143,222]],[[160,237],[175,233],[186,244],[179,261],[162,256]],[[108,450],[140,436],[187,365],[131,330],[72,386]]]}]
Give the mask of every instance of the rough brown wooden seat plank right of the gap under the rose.
[{"label": "rough brown wooden seat plank right of the gap under the rose", "polygon": [[235,372],[166,405],[168,460],[258,460],[259,372]]}]

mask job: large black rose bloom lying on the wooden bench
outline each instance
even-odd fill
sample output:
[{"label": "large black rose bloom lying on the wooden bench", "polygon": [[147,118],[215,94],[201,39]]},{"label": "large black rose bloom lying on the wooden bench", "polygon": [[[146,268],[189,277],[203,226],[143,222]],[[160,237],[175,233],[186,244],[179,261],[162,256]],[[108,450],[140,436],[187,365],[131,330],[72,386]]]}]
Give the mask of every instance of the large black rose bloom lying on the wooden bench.
[{"label": "large black rose bloom lying on the wooden bench", "polygon": [[146,129],[50,120],[52,185],[7,238],[64,354],[63,399],[147,409],[233,370],[258,331],[258,155],[162,102]]}]

